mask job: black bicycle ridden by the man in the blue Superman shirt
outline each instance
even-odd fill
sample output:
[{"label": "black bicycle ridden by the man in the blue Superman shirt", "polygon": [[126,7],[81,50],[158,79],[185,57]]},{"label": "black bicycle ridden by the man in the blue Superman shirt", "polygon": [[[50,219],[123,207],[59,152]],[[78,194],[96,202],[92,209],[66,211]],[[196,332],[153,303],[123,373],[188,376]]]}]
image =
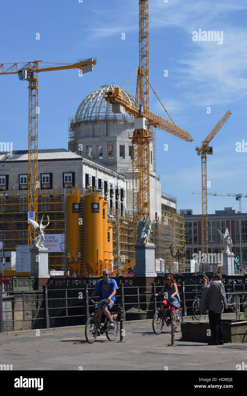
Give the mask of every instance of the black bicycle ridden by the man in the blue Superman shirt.
[{"label": "black bicycle ridden by the man in the blue Superman shirt", "polygon": [[85,326],[85,336],[86,340],[89,344],[92,344],[96,338],[97,335],[106,334],[106,337],[109,341],[114,341],[117,338],[118,335],[118,313],[117,312],[112,312],[111,317],[113,320],[113,326],[110,326],[110,320],[105,317],[105,323],[103,326],[101,326],[101,323],[99,321],[99,314],[98,314],[98,305],[102,301],[107,302],[107,299],[103,299],[99,301],[99,303],[96,303],[91,299],[92,303],[94,304],[94,312],[92,313],[91,318],[87,320],[86,326]]}]

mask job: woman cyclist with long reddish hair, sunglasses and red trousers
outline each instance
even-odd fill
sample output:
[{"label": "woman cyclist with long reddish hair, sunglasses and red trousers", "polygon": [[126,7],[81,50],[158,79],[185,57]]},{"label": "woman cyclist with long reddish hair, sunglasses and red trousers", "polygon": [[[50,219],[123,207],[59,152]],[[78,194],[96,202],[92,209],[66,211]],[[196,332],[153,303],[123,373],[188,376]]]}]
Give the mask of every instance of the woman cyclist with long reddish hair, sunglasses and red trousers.
[{"label": "woman cyclist with long reddish hair, sunglasses and red trousers", "polygon": [[[165,285],[162,287],[161,291],[159,293],[156,293],[155,296],[161,295],[167,293],[168,298],[166,298],[162,304],[164,310],[170,306],[170,313],[175,312],[175,309],[178,309],[180,307],[180,297],[179,297],[179,292],[177,289],[177,283],[173,279],[172,275],[166,275],[165,276]],[[174,315],[175,322],[171,322],[172,324],[175,325],[175,328],[177,327],[177,317]]]}]

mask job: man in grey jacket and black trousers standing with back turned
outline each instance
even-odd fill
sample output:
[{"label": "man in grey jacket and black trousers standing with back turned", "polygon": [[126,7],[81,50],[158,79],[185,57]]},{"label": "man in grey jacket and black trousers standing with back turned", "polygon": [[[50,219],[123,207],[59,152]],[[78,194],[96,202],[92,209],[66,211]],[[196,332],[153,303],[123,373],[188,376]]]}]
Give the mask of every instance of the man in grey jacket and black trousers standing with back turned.
[{"label": "man in grey jacket and black trousers standing with back turned", "polygon": [[211,284],[209,284],[207,277],[205,277],[205,279],[207,280],[207,285],[205,285],[207,290],[203,305],[203,312],[209,310],[209,326],[213,335],[212,342],[208,343],[207,345],[223,345],[224,338],[221,324],[221,301],[224,303],[224,308],[227,308],[227,302],[224,285],[221,282],[222,275],[214,274],[213,282],[211,282]]}]

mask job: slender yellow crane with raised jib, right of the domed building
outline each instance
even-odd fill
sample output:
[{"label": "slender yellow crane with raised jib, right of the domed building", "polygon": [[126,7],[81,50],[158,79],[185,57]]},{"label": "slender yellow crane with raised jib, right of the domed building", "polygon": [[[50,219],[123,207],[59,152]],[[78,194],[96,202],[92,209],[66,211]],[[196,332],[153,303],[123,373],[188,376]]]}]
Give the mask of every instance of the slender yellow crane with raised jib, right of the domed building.
[{"label": "slender yellow crane with raised jib, right of the domed building", "polygon": [[201,199],[202,199],[202,253],[208,252],[208,235],[207,235],[207,154],[213,154],[213,146],[209,143],[215,137],[220,128],[228,120],[232,113],[230,110],[224,114],[221,120],[215,125],[215,128],[209,133],[200,147],[196,147],[197,155],[201,154]]}]

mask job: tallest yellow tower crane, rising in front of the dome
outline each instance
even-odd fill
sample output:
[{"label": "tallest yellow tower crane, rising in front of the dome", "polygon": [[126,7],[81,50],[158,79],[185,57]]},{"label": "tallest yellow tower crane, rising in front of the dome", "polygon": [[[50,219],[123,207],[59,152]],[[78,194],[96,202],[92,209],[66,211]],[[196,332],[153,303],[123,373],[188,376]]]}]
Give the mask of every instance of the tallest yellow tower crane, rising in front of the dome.
[{"label": "tallest yellow tower crane, rising in front of the dome", "polygon": [[[154,139],[150,127],[163,129],[185,141],[191,142],[194,140],[190,133],[179,128],[172,119],[169,122],[149,111],[149,86],[152,88],[149,82],[148,66],[148,0],[139,0],[139,67],[137,70],[135,107],[122,94],[120,88],[110,89],[105,95],[106,101],[114,105],[112,106],[113,112],[122,112],[125,109],[126,112],[135,117],[135,129],[133,133],[129,133],[129,138],[132,140],[134,230],[137,229],[137,225],[144,215],[148,219],[150,217],[149,142],[150,138]],[[158,100],[160,101],[159,98]],[[134,245],[135,241],[136,236],[134,235]]]}]

